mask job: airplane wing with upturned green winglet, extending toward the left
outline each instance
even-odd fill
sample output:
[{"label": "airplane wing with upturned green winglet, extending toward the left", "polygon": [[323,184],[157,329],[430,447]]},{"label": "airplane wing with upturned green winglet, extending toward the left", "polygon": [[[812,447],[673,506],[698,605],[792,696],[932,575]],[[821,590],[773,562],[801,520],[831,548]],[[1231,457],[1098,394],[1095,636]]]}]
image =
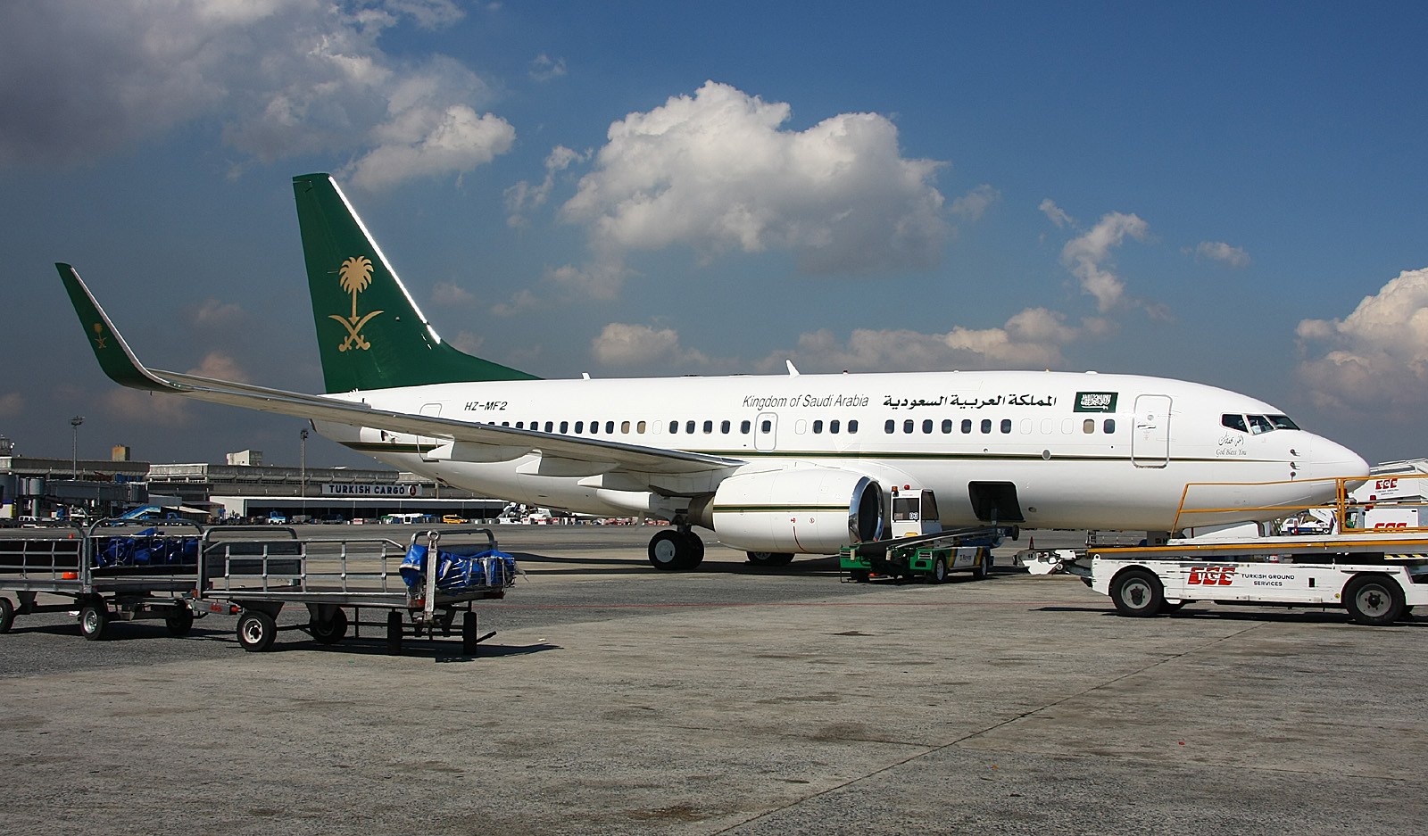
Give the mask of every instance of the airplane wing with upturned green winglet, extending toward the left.
[{"label": "airplane wing with upturned green winglet, extending toward the left", "polygon": [[[508,461],[526,452],[538,451],[544,458],[570,459],[601,465],[603,469],[618,468],[638,474],[701,474],[724,471],[745,464],[743,459],[621,444],[598,438],[574,438],[534,429],[516,429],[493,424],[473,424],[453,418],[414,415],[374,409],[373,407],[341,397],[306,395],[270,389],[233,381],[204,378],[161,369],[150,369],[139,362],[124,338],[114,330],[104,310],[100,308],[79,272],[69,264],[56,264],[64,290],[70,294],[74,311],[84,325],[90,348],[100,368],[114,382],[153,392],[167,392],[198,401],[246,407],[263,412],[294,415],[311,421],[328,421],[353,427],[371,427],[388,432],[423,435],[444,444],[477,445],[473,461]],[[487,448],[496,458],[480,458]]]}]

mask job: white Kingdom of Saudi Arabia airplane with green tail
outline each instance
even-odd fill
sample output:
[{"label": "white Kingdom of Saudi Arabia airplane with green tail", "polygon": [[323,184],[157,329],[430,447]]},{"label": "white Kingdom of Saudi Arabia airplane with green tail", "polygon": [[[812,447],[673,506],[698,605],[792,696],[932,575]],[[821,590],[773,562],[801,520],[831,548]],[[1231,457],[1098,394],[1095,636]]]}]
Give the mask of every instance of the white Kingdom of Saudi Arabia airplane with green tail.
[{"label": "white Kingdom of Saudi Arabia airplane with green tail", "polygon": [[444,342],[330,175],[293,188],[326,395],[149,369],[59,264],[104,372],[307,418],[478,494],[667,519],[648,548],[661,569],[700,564],[691,526],[775,565],[883,539],[894,492],[931,491],[948,528],[1164,532],[1269,519],[1334,499],[1334,476],[1368,475],[1264,401],[1154,377],[790,362],[787,375],[537,379]]}]

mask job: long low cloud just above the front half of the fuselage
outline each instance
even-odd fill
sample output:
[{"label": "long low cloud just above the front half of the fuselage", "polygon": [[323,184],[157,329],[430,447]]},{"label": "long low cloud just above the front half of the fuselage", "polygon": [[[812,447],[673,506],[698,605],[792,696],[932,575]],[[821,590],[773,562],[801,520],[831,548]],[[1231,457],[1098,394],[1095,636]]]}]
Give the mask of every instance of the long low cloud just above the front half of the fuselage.
[{"label": "long low cloud just above the front half of the fuselage", "polygon": [[1104,337],[1112,325],[1088,318],[1081,327],[1047,308],[1027,308],[1002,328],[964,328],[945,334],[910,330],[858,328],[847,344],[831,331],[800,334],[793,351],[775,351],[757,364],[774,372],[793,360],[803,371],[938,371],[952,368],[1064,368],[1061,348],[1084,338]]}]

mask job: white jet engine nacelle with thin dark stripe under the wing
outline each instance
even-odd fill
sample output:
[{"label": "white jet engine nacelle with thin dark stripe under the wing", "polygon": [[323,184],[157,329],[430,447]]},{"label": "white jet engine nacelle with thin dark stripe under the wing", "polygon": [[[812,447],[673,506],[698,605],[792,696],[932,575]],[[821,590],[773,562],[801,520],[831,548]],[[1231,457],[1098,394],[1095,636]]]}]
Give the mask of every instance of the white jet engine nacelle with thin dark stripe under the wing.
[{"label": "white jet engine nacelle with thin dark stripe under the wing", "polygon": [[830,555],[883,536],[883,488],[835,468],[741,474],[695,499],[690,522],[748,551]]}]

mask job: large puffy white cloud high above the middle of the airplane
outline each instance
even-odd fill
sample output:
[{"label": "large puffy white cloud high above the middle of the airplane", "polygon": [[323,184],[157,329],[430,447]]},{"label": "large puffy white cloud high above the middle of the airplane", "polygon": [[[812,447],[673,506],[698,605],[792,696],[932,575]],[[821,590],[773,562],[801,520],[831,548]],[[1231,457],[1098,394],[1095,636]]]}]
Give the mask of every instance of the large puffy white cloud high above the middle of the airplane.
[{"label": "large puffy white cloud high above the middle of the airplane", "polygon": [[780,130],[790,107],[705,83],[610,126],[595,170],[563,207],[603,261],[684,244],[788,250],[807,272],[927,268],[948,235],[940,165],[900,154],[897,128],[845,113]]}]

